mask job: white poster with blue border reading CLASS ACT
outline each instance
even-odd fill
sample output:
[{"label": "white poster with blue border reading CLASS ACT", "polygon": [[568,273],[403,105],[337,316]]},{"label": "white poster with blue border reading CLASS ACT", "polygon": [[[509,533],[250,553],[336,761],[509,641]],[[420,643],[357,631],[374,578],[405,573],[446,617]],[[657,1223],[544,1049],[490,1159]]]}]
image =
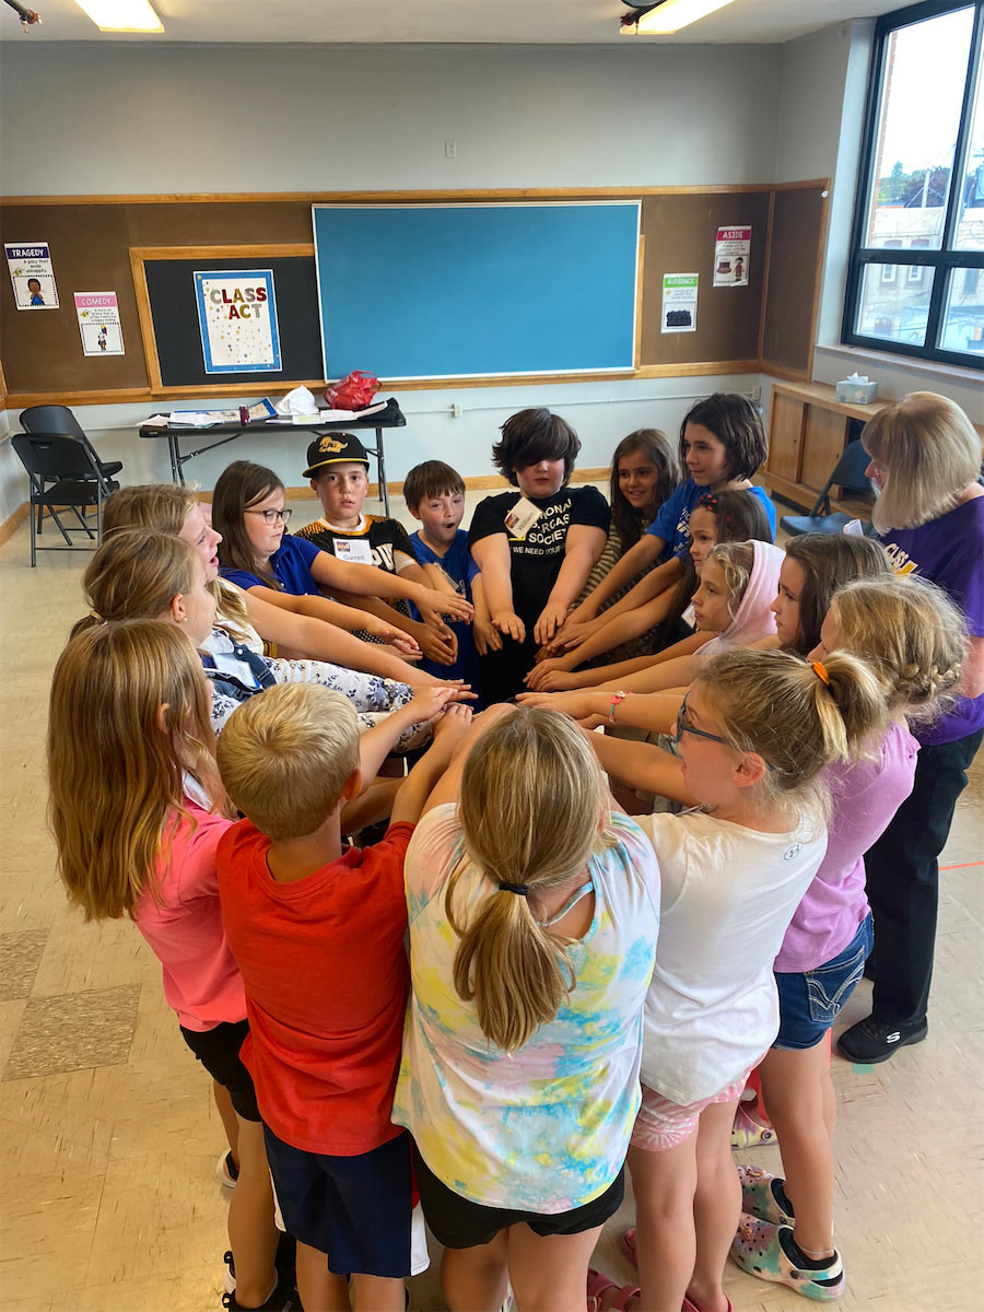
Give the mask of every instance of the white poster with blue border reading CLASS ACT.
[{"label": "white poster with blue border reading CLASS ACT", "polygon": [[283,367],[272,269],[195,273],[194,291],[206,374]]}]

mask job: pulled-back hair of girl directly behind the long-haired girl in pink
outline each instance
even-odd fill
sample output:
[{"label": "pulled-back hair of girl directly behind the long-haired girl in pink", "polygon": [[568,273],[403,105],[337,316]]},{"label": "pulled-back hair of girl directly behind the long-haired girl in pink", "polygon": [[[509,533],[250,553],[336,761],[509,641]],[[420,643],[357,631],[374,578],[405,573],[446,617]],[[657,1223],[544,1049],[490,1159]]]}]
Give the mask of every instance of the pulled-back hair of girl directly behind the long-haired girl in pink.
[{"label": "pulled-back hair of girl directly behind the long-haired girl in pink", "polygon": [[92,614],[79,621],[72,638],[105,619],[157,619],[178,593],[193,590],[199,569],[198,554],[181,538],[152,529],[114,533],[83,575]]}]

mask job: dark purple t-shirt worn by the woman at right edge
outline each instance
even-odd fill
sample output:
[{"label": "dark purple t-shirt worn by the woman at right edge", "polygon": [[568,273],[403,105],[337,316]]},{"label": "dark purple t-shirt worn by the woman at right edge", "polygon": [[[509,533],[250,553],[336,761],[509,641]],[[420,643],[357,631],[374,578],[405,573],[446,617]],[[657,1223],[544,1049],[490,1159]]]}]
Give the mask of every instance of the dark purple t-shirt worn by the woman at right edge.
[{"label": "dark purple t-shirt worn by the woman at right edge", "polygon": [[[938,584],[963,611],[971,638],[984,638],[984,496],[918,529],[888,529],[880,541],[896,573],[918,573]],[[958,698],[950,715],[916,736],[929,747],[955,743],[981,727],[984,693]]]}]

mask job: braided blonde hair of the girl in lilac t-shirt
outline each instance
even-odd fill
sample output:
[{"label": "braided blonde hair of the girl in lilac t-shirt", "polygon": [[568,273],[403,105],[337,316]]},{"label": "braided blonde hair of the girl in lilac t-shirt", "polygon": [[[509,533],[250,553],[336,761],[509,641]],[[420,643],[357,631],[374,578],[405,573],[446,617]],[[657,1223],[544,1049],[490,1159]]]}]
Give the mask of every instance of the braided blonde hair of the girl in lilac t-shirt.
[{"label": "braided blonde hair of the girl in lilac t-shirt", "polygon": [[882,680],[891,711],[928,722],[951,705],[967,656],[967,623],[942,588],[892,575],[840,588],[829,614],[840,646],[861,656]]}]

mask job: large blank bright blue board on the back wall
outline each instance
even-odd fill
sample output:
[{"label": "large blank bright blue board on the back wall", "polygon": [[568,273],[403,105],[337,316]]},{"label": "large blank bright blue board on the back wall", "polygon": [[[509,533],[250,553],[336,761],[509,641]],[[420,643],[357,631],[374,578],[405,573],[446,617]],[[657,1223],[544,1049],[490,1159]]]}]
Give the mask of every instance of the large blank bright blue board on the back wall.
[{"label": "large blank bright blue board on the back wall", "polygon": [[639,201],[315,205],[325,378],[628,371]]}]

